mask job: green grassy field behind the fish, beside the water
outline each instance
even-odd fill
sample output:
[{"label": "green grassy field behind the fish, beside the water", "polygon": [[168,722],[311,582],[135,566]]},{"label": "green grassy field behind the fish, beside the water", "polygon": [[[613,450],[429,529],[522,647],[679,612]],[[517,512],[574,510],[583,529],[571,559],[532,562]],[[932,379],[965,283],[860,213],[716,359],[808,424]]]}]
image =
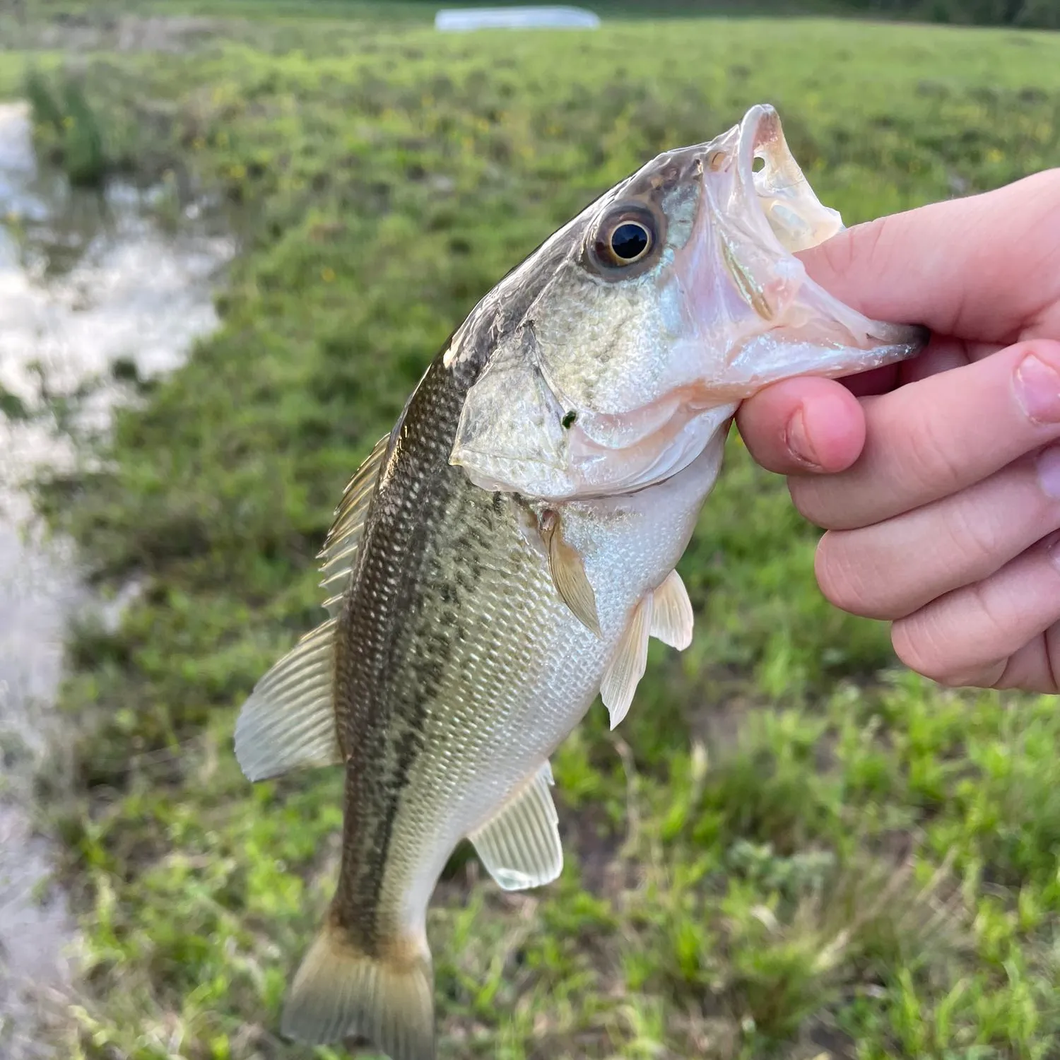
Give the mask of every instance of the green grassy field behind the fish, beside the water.
[{"label": "green grassy field behind the fish, beside the water", "polygon": [[[305,1056],[277,1015],[339,779],[251,788],[232,724],[319,620],[336,499],[439,344],[600,190],[760,100],[848,223],[1058,164],[1060,38],[259,19],[82,61],[104,129],[248,219],[218,332],[41,490],[102,584],[144,584],[70,643],[77,798],[50,805],[87,974],[64,1047]],[[462,849],[439,887],[443,1058],[1057,1055],[1056,702],[903,672],[819,596],[815,537],[734,437],[679,568],[692,647],[653,643],[620,729],[598,704],[555,757],[562,879],[505,896]]]}]

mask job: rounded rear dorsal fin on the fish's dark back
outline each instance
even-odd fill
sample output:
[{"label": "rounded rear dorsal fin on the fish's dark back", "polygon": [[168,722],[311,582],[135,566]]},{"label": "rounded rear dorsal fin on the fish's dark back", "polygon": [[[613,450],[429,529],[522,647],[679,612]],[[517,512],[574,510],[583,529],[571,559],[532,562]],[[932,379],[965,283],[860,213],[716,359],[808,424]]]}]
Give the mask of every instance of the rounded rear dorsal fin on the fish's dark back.
[{"label": "rounded rear dorsal fin on the fish's dark back", "polygon": [[332,706],[335,619],[302,639],[254,686],[235,722],[235,757],[248,780],[338,765]]}]

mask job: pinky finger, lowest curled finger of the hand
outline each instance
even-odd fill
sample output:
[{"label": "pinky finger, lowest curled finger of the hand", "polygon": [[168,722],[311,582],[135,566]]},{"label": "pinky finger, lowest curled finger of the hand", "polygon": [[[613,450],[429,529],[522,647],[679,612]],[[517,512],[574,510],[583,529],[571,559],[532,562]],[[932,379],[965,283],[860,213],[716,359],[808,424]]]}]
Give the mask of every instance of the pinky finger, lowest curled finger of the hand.
[{"label": "pinky finger, lowest curled finger of the hand", "polygon": [[1015,665],[1011,677],[1023,678],[1019,687],[1038,690],[1052,673],[1044,632],[1058,622],[1060,534],[1050,534],[982,582],[899,619],[891,641],[909,669],[941,684],[1015,687],[1009,670]]}]

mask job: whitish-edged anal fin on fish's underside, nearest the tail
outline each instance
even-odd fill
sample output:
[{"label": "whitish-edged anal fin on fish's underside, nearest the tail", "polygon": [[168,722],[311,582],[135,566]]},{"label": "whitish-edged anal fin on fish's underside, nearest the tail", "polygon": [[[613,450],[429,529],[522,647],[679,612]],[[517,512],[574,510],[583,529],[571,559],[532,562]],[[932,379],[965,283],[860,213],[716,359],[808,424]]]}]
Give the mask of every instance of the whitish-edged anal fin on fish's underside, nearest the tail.
[{"label": "whitish-edged anal fin on fish's underside, nearest the tail", "polygon": [[490,876],[505,890],[551,883],[563,871],[560,816],[549,788],[546,761],[530,782],[469,838]]}]

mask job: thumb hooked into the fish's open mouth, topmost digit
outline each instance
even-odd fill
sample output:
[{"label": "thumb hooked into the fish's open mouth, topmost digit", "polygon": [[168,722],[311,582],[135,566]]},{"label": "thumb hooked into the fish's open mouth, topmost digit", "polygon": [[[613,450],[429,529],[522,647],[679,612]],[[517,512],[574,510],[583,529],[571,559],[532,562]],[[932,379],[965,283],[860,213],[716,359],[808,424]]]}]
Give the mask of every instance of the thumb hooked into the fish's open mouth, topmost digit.
[{"label": "thumb hooked into the fish's open mouth, topmost digit", "polygon": [[798,257],[874,320],[1006,344],[1056,338],[1060,169],[856,225]]}]

